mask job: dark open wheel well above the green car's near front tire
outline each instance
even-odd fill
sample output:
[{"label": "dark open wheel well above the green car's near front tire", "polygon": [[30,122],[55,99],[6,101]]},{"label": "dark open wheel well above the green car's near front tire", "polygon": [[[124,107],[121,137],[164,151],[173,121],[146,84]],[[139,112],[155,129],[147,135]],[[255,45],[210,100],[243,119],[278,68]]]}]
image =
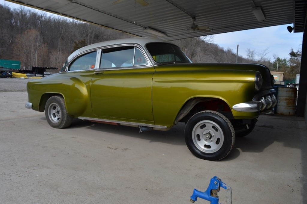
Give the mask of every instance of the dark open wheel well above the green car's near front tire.
[{"label": "dark open wheel well above the green car's near front tire", "polygon": [[178,122],[187,122],[194,114],[205,110],[216,111],[227,118],[233,118],[231,108],[222,99],[197,97],[191,98],[182,106],[174,124],[177,125]]}]

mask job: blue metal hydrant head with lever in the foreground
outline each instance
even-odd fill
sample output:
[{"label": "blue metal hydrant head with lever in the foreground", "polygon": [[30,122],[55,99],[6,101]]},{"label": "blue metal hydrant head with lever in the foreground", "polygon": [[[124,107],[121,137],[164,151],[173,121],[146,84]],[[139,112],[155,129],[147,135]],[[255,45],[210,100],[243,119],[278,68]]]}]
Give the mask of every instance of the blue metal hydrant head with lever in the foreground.
[{"label": "blue metal hydrant head with lever in the foreground", "polygon": [[226,202],[227,204],[232,203],[232,194],[231,187],[227,186],[222,180],[214,176],[209,183],[209,186],[206,191],[201,192],[194,189],[190,201],[195,202],[197,198],[203,198],[204,200],[210,201],[210,204],[220,204],[219,196],[217,195],[220,192],[220,187],[226,190]]}]

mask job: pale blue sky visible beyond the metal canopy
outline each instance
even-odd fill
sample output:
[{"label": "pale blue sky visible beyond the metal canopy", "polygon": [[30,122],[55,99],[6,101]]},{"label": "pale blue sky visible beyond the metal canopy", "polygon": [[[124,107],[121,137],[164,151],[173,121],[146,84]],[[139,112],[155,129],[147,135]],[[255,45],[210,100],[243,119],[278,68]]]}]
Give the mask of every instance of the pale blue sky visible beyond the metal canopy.
[{"label": "pale blue sky visible beyond the metal canopy", "polygon": [[[0,0],[0,4],[6,4],[12,8],[20,6],[4,0]],[[27,8],[30,9],[29,7]],[[288,59],[291,48],[294,51],[301,50],[303,33],[289,33],[287,26],[289,25],[216,34],[214,35],[214,43],[225,49],[231,48],[235,53],[237,51],[237,44],[239,44],[239,55],[243,57],[246,57],[246,50],[248,48],[255,50],[256,57],[258,53],[267,48],[269,51],[267,57],[271,61],[274,60],[273,55]],[[293,26],[293,24],[290,24],[290,26]]]}]

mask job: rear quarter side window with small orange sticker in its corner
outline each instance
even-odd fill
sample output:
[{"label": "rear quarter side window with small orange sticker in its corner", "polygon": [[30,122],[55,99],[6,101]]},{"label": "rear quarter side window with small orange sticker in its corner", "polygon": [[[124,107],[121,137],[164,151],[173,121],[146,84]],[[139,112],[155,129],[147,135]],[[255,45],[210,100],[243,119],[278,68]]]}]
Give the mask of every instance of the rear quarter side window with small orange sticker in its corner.
[{"label": "rear quarter side window with small orange sticker in its corner", "polygon": [[72,62],[72,64],[70,64],[68,71],[94,69],[96,64],[96,56],[97,52],[95,51],[78,57]]}]

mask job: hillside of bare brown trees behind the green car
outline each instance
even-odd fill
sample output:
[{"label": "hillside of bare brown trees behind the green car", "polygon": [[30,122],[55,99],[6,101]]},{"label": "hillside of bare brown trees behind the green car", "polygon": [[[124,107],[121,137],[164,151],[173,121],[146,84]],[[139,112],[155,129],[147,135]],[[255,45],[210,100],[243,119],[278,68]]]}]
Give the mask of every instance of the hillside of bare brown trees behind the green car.
[{"label": "hillside of bare brown trees behind the green car", "polygon": [[[33,12],[25,7],[10,9],[0,5],[0,59],[19,60],[21,68],[31,66],[62,67],[68,55],[88,44],[132,37],[111,29],[51,17],[45,12]],[[236,55],[230,48],[223,49],[212,43],[212,36],[173,41],[193,62],[231,62]],[[273,63],[265,52],[258,60],[249,50],[249,59],[239,56],[238,63],[261,63],[273,70]],[[248,52],[248,51],[247,51]]]}]

